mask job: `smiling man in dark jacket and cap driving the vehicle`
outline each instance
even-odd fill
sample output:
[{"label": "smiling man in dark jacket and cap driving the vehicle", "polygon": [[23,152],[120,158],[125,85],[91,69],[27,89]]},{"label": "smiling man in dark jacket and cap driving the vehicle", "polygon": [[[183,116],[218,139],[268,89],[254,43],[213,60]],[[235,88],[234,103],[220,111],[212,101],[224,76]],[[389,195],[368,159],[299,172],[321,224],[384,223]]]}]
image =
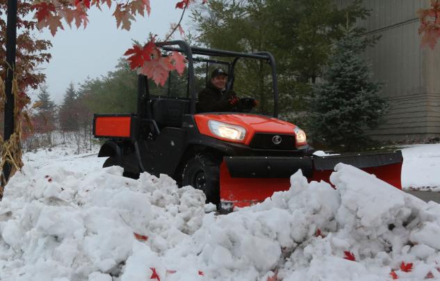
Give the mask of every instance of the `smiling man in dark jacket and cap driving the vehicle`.
[{"label": "smiling man in dark jacket and cap driving the vehicle", "polygon": [[199,112],[232,111],[238,104],[238,97],[232,90],[226,90],[227,73],[215,69],[206,87],[199,93]]}]

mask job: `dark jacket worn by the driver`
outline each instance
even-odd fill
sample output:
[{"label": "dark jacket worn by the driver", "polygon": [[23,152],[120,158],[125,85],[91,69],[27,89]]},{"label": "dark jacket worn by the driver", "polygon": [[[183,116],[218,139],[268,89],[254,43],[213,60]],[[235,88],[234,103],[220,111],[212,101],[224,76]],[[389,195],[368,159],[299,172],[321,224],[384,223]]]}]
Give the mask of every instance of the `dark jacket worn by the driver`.
[{"label": "dark jacket worn by the driver", "polygon": [[215,88],[211,81],[199,93],[199,104],[197,104],[198,112],[222,112],[231,111],[234,106],[229,104],[229,99],[236,96],[234,91],[219,90]]}]

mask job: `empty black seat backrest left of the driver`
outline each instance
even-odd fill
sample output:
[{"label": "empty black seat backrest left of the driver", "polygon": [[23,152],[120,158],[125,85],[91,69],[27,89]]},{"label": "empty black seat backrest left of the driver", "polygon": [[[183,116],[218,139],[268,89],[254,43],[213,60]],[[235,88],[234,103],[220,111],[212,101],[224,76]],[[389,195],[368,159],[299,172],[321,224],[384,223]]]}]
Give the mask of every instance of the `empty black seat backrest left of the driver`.
[{"label": "empty black seat backrest left of the driver", "polygon": [[188,99],[152,99],[153,119],[159,128],[181,127],[182,116],[190,112]]}]

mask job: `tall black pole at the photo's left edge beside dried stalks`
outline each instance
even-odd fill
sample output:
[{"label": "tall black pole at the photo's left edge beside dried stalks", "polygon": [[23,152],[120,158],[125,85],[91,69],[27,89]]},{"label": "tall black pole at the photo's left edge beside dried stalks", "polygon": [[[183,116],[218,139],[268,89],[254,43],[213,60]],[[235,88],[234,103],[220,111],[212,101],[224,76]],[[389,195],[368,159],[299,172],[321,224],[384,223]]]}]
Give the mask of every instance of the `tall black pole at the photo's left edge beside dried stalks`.
[{"label": "tall black pole at the photo's left edge beside dried stalks", "polygon": [[[8,0],[8,22],[6,26],[6,104],[4,122],[4,140],[14,134],[14,95],[13,77],[15,70],[15,51],[17,41],[17,0]],[[3,166],[4,183],[8,182],[11,166],[6,162]],[[4,186],[3,186],[4,187]]]}]

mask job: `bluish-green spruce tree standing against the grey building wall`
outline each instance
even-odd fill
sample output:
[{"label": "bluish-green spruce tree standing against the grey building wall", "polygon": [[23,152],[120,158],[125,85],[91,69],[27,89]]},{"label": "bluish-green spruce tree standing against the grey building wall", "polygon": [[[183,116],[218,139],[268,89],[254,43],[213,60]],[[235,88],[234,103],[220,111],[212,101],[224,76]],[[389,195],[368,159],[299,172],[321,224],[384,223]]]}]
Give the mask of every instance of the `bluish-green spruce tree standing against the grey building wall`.
[{"label": "bluish-green spruce tree standing against the grey building wall", "polygon": [[380,83],[361,54],[377,38],[365,38],[360,29],[345,28],[335,45],[323,82],[313,87],[309,127],[313,140],[345,150],[359,149],[370,139],[366,129],[376,127],[386,111]]}]

